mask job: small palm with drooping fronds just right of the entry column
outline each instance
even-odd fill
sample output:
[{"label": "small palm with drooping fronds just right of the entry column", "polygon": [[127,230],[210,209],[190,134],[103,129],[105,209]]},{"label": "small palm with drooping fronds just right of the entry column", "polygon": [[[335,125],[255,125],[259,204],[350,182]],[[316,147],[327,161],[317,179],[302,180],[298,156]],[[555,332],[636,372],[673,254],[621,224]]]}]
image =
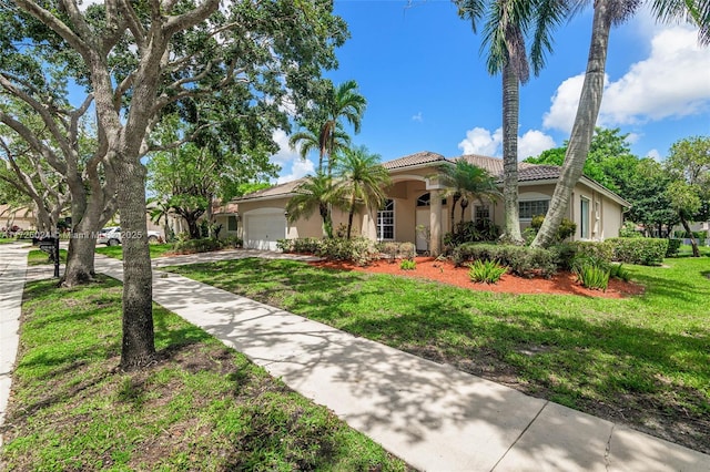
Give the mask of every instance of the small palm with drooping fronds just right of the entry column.
[{"label": "small palm with drooping fronds just right of the entry column", "polygon": [[465,211],[471,199],[483,203],[484,197],[494,198],[500,195],[490,174],[468,161],[458,160],[455,165],[442,166],[440,171],[440,182],[447,187],[444,195],[452,198],[452,233],[455,228],[454,218],[457,202],[462,208],[463,222]]}]

